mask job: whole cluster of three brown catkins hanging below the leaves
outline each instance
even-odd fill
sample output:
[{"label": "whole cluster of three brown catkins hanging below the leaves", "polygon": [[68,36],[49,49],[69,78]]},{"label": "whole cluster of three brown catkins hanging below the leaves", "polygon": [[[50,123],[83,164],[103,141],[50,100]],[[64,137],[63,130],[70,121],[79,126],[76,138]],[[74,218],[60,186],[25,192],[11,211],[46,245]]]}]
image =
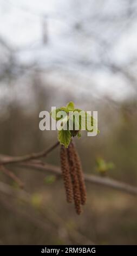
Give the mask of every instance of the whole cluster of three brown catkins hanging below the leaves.
[{"label": "whole cluster of three brown catkins hanging below the leaves", "polygon": [[72,141],[67,149],[61,145],[61,170],[67,202],[71,203],[74,200],[76,212],[81,214],[81,205],[86,202],[86,186],[80,157]]}]

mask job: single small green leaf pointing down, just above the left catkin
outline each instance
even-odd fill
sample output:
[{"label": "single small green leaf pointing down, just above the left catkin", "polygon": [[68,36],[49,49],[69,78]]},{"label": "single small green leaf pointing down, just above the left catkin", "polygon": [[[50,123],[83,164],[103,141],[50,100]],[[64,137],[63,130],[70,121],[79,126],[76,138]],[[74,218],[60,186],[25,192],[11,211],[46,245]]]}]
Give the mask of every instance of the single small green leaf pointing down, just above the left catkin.
[{"label": "single small green leaf pointing down, just above the left catkin", "polygon": [[65,148],[68,148],[68,145],[71,141],[71,132],[69,130],[58,131],[58,141],[64,145]]}]

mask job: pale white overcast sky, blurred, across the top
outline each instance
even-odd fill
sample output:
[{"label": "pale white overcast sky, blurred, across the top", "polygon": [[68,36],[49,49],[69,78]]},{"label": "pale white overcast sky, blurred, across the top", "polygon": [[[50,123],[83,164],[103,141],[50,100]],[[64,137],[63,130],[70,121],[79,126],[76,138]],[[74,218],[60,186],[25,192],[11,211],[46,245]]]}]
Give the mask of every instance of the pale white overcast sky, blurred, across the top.
[{"label": "pale white overcast sky, blurred, across the top", "polygon": [[[95,89],[95,94],[119,98],[129,94],[125,79],[99,65],[105,60],[124,66],[136,56],[136,13],[123,20],[120,17],[121,12],[126,15],[128,3],[0,0],[0,36],[17,50],[21,63],[36,62],[42,69],[51,68],[49,78],[53,81],[67,81],[73,90],[79,87],[81,92],[87,89],[92,93]],[[136,3],[133,8],[137,12]],[[109,23],[105,21],[108,16],[112,18]],[[42,44],[43,17],[47,21],[46,45]],[[81,30],[76,30],[81,22]]]}]

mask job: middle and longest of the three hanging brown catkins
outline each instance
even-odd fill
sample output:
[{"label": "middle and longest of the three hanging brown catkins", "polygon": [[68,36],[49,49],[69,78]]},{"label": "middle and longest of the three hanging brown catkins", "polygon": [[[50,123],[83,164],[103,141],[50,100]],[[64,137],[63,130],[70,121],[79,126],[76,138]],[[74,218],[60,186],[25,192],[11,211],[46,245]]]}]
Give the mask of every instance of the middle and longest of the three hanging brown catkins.
[{"label": "middle and longest of the three hanging brown catkins", "polygon": [[81,194],[80,194],[80,186],[79,180],[77,177],[76,164],[74,159],[74,147],[73,144],[70,143],[68,147],[68,160],[69,160],[69,168],[71,174],[71,180],[73,184],[73,195],[74,195],[74,203],[77,214],[81,214]]}]

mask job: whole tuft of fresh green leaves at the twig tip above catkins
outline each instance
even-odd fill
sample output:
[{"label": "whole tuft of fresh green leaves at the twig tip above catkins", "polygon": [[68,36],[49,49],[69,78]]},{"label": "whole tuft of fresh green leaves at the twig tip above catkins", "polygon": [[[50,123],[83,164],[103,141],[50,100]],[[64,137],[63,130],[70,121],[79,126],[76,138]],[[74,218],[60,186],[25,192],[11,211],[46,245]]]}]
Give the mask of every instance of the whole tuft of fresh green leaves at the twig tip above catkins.
[{"label": "whole tuft of fresh green leaves at the twig tip above catkins", "polygon": [[[59,111],[61,111],[61,113],[58,113]],[[72,112],[72,115],[68,115],[68,112],[70,111]],[[78,112],[80,115],[79,116],[77,116],[76,114],[74,115],[75,112]],[[68,147],[72,136],[73,137],[77,136],[78,138],[81,137],[81,130],[87,130],[88,132],[93,132],[93,124],[94,124],[94,129],[96,129],[96,132],[100,133],[100,131],[97,130],[96,120],[93,119],[93,117],[87,112],[82,111],[82,109],[75,108],[74,103],[72,101],[70,101],[66,107],[63,106],[63,107],[54,109],[50,113],[50,115],[56,121],[60,120],[60,124],[58,123],[57,125],[60,125],[61,129],[62,127],[64,129],[71,129],[70,131],[69,130],[66,131],[63,129],[61,131],[58,131],[58,141],[60,141],[60,143],[64,145],[64,147],[66,148]],[[69,128],[69,124],[71,124],[71,128]],[[90,127],[89,129],[88,126],[89,127],[92,126],[92,127]],[[57,127],[58,127],[58,130],[60,130],[60,127],[59,126]]]}]

